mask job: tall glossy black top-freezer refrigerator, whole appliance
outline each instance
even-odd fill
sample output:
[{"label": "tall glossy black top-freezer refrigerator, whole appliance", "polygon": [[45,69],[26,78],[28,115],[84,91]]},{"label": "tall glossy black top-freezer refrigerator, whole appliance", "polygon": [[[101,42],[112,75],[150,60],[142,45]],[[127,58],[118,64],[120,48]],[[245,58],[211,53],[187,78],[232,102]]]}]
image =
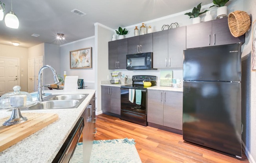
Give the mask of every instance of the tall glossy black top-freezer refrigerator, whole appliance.
[{"label": "tall glossy black top-freezer refrigerator, whole appliance", "polygon": [[241,43],[183,58],[183,139],[241,158]]}]

